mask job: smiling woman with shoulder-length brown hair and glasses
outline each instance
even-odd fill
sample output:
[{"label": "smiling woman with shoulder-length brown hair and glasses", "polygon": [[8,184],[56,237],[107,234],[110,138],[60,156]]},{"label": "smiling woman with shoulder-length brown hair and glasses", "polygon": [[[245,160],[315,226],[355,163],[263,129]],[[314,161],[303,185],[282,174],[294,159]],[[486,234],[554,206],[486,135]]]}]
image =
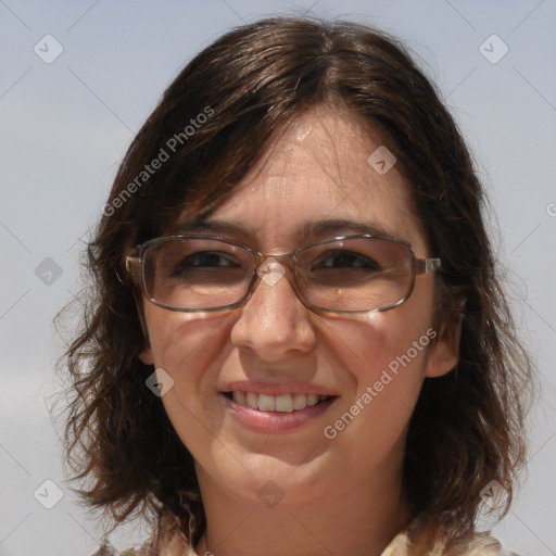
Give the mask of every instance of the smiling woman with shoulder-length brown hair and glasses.
[{"label": "smiling woman with shoulder-length brown hair and glasses", "polygon": [[[132,554],[498,554],[530,365],[468,150],[403,46],[228,33],[168,87],[89,245],[81,490]],[[108,553],[101,549],[101,554]]]}]

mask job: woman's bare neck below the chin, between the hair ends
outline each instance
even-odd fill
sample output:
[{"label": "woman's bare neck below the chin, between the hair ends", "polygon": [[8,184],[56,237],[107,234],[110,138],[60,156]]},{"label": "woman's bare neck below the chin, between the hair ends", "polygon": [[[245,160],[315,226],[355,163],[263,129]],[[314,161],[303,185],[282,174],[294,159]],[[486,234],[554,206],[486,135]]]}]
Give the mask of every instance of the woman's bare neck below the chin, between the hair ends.
[{"label": "woman's bare neck below the chin, between the hair ends", "polygon": [[[379,556],[408,521],[401,469],[351,491],[327,490],[325,501],[273,508],[202,489],[206,531],[197,554],[215,556]],[[338,492],[341,491],[341,492]],[[334,494],[336,493],[336,494]]]}]

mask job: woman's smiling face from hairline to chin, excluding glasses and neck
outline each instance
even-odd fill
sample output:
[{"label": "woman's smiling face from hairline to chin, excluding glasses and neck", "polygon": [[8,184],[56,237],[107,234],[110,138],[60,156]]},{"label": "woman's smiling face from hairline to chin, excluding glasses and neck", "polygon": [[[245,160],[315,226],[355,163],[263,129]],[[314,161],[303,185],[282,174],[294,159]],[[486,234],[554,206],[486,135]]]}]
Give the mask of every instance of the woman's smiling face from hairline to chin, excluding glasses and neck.
[{"label": "woman's smiling face from hairline to chin, excluding glasses and neck", "polygon": [[[283,254],[361,233],[364,225],[410,242],[417,257],[431,256],[396,165],[378,173],[367,162],[380,146],[378,134],[353,116],[313,109],[275,138],[206,227],[188,233],[219,229],[263,253]],[[317,223],[328,229],[307,233]],[[417,276],[409,299],[393,309],[317,314],[286,274],[260,280],[231,311],[188,314],[144,301],[149,345],[141,358],[174,380],[162,400],[195,459],[201,488],[255,506],[265,502],[265,489],[275,489],[269,494],[280,504],[299,507],[400,479],[422,381],[456,363],[445,331],[432,329],[433,298],[430,273]],[[248,396],[265,407],[289,395],[299,409],[245,405]],[[323,400],[305,406],[315,395]]]}]

